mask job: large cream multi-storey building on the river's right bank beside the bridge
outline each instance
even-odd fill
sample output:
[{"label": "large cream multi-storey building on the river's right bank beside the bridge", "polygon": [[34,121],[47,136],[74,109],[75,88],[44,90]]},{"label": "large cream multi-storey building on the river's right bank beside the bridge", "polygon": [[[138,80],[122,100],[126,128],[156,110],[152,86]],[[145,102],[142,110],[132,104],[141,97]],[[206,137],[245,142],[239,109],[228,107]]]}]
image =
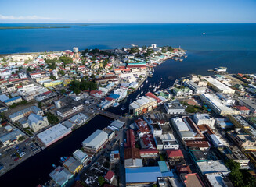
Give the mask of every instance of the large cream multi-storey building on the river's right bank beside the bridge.
[{"label": "large cream multi-storey building on the river's right bank beside the bridge", "polygon": [[157,100],[152,97],[140,97],[130,104],[129,111],[133,115],[142,115],[148,111],[152,111],[153,108],[157,108]]}]

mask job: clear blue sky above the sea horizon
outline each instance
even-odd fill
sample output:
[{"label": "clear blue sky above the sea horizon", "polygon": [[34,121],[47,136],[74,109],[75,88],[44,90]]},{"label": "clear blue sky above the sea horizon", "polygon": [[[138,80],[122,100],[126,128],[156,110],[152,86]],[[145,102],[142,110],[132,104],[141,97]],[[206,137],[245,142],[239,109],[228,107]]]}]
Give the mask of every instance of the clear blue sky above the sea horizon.
[{"label": "clear blue sky above the sea horizon", "polygon": [[256,0],[0,0],[0,23],[256,23]]}]

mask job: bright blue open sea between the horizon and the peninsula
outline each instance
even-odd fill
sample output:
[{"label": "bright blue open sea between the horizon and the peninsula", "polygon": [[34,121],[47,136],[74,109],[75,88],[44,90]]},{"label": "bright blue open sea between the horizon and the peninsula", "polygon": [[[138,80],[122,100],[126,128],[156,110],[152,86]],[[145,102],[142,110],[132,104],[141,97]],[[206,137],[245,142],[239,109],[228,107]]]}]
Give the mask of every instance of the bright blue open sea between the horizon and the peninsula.
[{"label": "bright blue open sea between the horizon and the peninsula", "polygon": [[[42,24],[5,26],[70,26],[56,29],[0,30],[0,53],[121,48],[127,44],[172,45],[195,51],[256,51],[256,24]],[[203,34],[205,33],[205,34]]]}]

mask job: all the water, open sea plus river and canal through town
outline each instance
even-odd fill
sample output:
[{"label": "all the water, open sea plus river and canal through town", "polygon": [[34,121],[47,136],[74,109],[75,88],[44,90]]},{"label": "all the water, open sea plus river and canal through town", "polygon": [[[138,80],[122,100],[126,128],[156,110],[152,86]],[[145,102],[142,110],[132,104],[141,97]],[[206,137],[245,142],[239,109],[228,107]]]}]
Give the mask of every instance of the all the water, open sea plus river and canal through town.
[{"label": "all the water, open sea plus river and canal through town", "polygon": [[[0,23],[3,26],[70,26],[52,29],[0,29],[0,54],[63,51],[74,46],[85,48],[122,48],[130,44],[158,46],[171,45],[186,49],[182,62],[168,60],[155,68],[153,78],[143,86],[143,93],[158,85],[161,89],[171,86],[175,79],[190,73],[211,74],[207,69],[226,66],[228,72],[256,72],[256,24],[32,24]],[[205,34],[203,34],[205,33]],[[160,79],[162,78],[162,79]],[[108,111],[124,115],[128,105],[141,90],[135,91],[117,108]],[[121,108],[125,107],[124,111]],[[110,119],[103,116],[72,132],[41,153],[27,159],[0,178],[3,186],[36,186],[49,180],[52,164],[59,158],[69,156],[81,147],[81,142],[96,129],[110,125]]]}]

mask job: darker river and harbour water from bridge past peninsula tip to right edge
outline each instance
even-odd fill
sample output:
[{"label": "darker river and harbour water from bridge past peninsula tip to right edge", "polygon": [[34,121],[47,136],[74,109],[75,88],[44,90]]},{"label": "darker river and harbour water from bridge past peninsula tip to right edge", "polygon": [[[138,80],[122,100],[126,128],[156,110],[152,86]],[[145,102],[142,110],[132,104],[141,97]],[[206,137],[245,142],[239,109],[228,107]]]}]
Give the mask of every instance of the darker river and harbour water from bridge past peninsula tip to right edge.
[{"label": "darker river and harbour water from bridge past peninsula tip to right edge", "polygon": [[[116,108],[108,108],[117,115],[125,115],[128,113],[129,104],[135,101],[138,95],[145,95],[148,91],[153,91],[153,85],[161,86],[158,90],[164,90],[173,85],[175,79],[189,76],[191,73],[197,75],[213,75],[207,72],[207,69],[213,69],[219,66],[228,68],[229,73],[256,73],[256,53],[254,51],[187,51],[188,58],[184,58],[182,62],[175,60],[167,60],[155,67],[153,77],[148,78],[148,83],[144,83],[142,89],[136,90],[130,94]],[[254,63],[252,63],[254,62]],[[152,85],[152,87],[149,87]],[[143,94],[141,92],[143,91]],[[121,110],[121,108],[125,110]]]}]

